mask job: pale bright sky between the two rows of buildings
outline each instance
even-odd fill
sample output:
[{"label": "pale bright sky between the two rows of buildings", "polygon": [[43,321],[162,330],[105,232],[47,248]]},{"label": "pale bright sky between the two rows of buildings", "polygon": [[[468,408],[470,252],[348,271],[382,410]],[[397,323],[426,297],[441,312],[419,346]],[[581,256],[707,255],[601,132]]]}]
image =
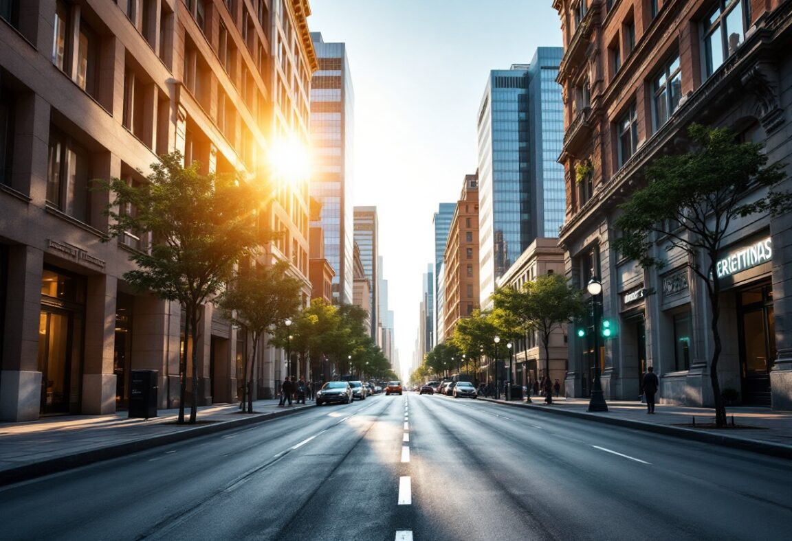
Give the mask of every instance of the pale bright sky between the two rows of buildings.
[{"label": "pale bright sky between the two rows of buildings", "polygon": [[434,262],[432,217],[476,172],[476,120],[489,70],[560,47],[551,0],[310,0],[311,32],[345,42],[355,93],[354,204],[374,205],[394,311],[409,365],[421,278]]}]

